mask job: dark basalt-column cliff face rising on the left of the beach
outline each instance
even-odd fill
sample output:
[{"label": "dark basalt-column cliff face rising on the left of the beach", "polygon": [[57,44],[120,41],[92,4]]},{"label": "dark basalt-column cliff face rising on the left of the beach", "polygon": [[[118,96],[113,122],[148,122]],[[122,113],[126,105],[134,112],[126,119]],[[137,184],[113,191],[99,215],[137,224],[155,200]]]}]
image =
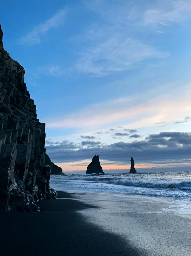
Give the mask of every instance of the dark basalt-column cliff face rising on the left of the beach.
[{"label": "dark basalt-column cliff face rising on the left of the beach", "polygon": [[45,124],[24,82],[24,69],[3,48],[0,25],[0,210],[39,211],[38,200],[55,198],[46,166]]}]

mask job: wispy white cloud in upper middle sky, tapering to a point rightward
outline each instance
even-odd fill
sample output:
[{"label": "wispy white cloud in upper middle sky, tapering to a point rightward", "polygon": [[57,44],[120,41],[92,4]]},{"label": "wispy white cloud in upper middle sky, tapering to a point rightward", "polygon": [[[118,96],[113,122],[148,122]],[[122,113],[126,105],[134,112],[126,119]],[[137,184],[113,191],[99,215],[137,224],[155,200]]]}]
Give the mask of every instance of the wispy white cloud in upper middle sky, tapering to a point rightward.
[{"label": "wispy white cloud in upper middle sky, tapering to a point rightward", "polygon": [[102,77],[113,71],[128,70],[132,64],[144,59],[161,59],[167,56],[168,53],[125,37],[122,31],[117,34],[113,32],[104,42],[91,42],[91,46],[80,53],[76,69],[79,73]]}]

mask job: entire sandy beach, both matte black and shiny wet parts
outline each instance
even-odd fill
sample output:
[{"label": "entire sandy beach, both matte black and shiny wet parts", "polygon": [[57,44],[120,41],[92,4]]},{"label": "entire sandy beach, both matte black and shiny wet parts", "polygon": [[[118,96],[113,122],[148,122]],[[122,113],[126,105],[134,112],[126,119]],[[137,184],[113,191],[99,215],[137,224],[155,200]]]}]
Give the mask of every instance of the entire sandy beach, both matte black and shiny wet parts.
[{"label": "entire sandy beach, both matte black and shiny wet parts", "polygon": [[173,203],[147,197],[58,192],[40,213],[0,211],[1,255],[186,256],[191,220],[163,211]]}]

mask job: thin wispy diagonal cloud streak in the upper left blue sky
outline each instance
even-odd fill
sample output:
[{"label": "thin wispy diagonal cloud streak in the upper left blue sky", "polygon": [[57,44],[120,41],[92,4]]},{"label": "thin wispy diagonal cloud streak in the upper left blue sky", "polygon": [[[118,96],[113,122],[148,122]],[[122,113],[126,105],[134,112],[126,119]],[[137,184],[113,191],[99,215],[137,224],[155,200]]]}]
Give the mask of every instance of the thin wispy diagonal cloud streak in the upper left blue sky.
[{"label": "thin wispy diagonal cloud streak in the upper left blue sky", "polygon": [[64,23],[65,11],[59,10],[52,18],[36,26],[33,30],[19,39],[21,45],[35,45],[41,43],[41,37],[51,28],[56,28]]}]

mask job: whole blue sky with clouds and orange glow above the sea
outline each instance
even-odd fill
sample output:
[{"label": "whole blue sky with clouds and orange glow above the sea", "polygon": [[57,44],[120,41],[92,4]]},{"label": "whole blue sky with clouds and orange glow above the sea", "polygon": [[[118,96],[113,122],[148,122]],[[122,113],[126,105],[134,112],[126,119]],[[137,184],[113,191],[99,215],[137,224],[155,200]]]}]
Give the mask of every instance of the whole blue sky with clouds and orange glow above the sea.
[{"label": "whole blue sky with clouds and orange glow above the sea", "polygon": [[68,173],[191,169],[191,1],[2,1],[46,149]]}]

